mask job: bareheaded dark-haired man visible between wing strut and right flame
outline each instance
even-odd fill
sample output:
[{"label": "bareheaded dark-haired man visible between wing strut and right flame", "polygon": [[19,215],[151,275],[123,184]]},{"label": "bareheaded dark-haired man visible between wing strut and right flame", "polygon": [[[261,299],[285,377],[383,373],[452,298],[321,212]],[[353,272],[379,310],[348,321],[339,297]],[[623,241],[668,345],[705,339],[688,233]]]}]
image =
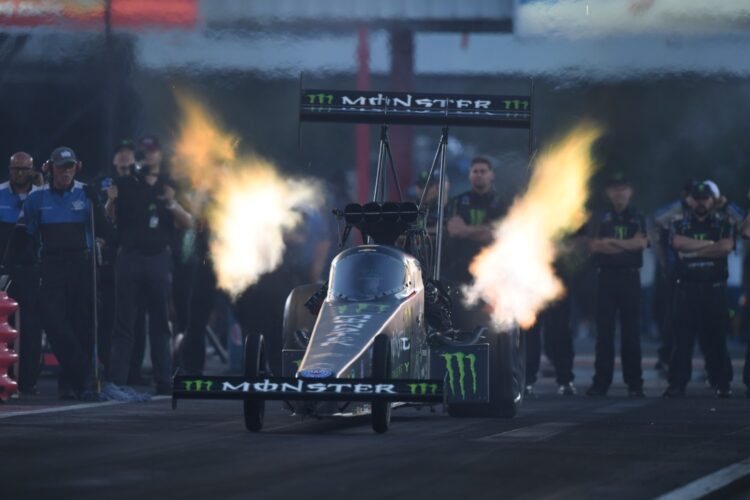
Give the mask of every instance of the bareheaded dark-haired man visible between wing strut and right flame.
[{"label": "bareheaded dark-haired man visible between wing strut and right flame", "polygon": [[508,209],[493,188],[495,172],[490,160],[478,156],[471,161],[471,190],[448,202],[446,207],[445,276],[457,283],[471,280],[469,264],[479,251],[492,242],[492,223]]}]

